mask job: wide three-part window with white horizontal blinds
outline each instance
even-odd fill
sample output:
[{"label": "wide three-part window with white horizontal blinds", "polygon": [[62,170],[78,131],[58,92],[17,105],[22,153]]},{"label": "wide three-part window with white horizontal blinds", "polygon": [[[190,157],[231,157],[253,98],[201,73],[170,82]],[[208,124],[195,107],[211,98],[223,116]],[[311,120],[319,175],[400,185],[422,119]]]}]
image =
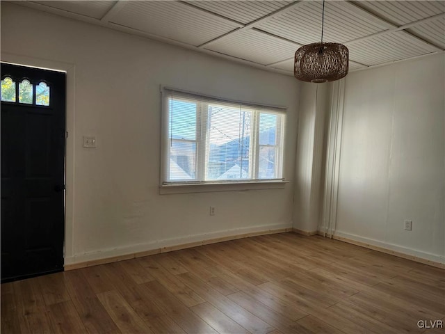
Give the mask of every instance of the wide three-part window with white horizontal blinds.
[{"label": "wide three-part window with white horizontal blinds", "polygon": [[285,112],[164,89],[162,183],[282,180]]}]

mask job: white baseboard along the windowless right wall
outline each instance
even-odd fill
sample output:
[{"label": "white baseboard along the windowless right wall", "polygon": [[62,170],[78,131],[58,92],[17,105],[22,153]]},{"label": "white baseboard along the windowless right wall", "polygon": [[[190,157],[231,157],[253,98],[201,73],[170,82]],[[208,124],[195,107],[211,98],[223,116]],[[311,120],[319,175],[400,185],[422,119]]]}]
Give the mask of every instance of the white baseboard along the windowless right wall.
[{"label": "white baseboard along the windowless right wall", "polygon": [[[323,235],[323,232],[321,231],[318,231],[318,233]],[[330,237],[330,235],[328,236]],[[350,234],[341,231],[335,231],[334,235],[332,236],[332,239],[345,241],[348,242],[349,244],[355,244],[357,246],[362,246],[373,250],[378,250],[382,253],[403,257],[408,260],[413,260],[424,264],[430,264],[434,267],[445,268],[444,255],[441,256],[432,253],[427,253],[421,250],[398,246],[396,244],[389,244],[387,242],[360,237],[355,234]]]}]

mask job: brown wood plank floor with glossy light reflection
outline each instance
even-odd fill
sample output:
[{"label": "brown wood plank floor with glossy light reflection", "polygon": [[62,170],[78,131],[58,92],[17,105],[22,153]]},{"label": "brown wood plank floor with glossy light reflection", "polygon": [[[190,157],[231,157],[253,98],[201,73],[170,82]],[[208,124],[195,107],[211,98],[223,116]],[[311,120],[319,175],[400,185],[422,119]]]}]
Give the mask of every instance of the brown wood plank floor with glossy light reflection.
[{"label": "brown wood plank floor with glossy light reflection", "polygon": [[[445,333],[445,271],[294,233],[1,285],[1,333]],[[435,323],[437,324],[437,322]]]}]

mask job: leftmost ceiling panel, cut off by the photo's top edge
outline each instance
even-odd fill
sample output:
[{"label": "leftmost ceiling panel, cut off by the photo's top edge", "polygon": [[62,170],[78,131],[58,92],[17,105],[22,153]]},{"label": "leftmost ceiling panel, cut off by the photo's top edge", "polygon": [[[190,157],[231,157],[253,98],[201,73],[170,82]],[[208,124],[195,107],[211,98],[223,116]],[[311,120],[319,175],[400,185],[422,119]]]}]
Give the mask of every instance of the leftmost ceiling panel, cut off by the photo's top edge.
[{"label": "leftmost ceiling panel, cut off by the photo's top edge", "polygon": [[44,6],[67,10],[95,19],[101,19],[116,1],[31,1]]}]

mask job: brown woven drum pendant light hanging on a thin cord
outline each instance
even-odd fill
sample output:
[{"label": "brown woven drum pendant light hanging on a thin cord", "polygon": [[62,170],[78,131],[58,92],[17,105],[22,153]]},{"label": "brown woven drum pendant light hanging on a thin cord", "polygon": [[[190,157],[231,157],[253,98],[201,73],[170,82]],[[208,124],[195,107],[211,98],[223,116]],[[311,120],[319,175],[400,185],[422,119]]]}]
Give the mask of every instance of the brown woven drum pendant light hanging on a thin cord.
[{"label": "brown woven drum pendant light hanging on a thin cord", "polygon": [[323,42],[325,0],[321,19],[321,42],[303,45],[295,53],[293,74],[298,80],[320,84],[346,77],[349,51],[344,45]]}]

